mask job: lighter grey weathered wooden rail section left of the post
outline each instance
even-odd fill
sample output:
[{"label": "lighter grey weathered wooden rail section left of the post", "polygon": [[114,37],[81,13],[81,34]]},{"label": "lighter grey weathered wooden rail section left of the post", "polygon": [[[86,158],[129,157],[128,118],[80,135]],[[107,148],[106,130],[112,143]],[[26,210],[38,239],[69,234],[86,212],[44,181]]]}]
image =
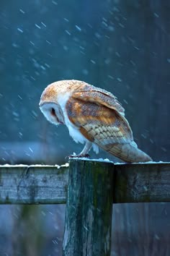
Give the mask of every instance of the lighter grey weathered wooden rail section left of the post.
[{"label": "lighter grey weathered wooden rail section left of the post", "polygon": [[1,204],[65,203],[68,166],[0,166]]}]

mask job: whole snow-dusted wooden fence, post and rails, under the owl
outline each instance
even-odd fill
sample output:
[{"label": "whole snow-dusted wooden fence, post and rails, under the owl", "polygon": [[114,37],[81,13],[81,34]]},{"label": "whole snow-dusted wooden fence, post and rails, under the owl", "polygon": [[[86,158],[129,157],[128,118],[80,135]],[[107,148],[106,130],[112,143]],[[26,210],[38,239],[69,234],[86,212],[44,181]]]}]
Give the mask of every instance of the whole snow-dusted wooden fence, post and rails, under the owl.
[{"label": "whole snow-dusted wooden fence, post and rails, under the owl", "polygon": [[66,203],[64,256],[109,256],[112,204],[169,202],[170,163],[0,166],[1,204]]}]

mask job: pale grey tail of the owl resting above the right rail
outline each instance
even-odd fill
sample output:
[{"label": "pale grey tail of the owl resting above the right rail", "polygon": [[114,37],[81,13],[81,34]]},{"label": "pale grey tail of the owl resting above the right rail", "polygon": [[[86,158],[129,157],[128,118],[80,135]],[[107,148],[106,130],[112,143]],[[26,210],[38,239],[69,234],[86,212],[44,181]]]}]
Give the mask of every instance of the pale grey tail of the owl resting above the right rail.
[{"label": "pale grey tail of the owl resting above the right rail", "polygon": [[107,145],[107,151],[129,163],[152,161],[151,157],[138,148],[135,142]]}]

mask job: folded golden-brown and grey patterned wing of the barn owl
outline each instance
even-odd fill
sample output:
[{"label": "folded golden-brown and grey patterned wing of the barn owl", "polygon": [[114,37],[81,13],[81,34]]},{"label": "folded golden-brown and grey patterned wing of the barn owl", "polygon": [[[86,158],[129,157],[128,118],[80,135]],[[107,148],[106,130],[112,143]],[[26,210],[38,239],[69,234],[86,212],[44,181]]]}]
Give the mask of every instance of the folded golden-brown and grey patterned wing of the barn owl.
[{"label": "folded golden-brown and grey patterned wing of the barn owl", "polygon": [[[126,145],[134,143],[128,121],[122,116],[122,107],[117,101],[103,101],[99,92],[75,93],[68,100],[66,109],[70,121],[79,127],[86,139],[94,142],[112,155],[129,161]],[[114,103],[114,104],[113,104]]]}]

